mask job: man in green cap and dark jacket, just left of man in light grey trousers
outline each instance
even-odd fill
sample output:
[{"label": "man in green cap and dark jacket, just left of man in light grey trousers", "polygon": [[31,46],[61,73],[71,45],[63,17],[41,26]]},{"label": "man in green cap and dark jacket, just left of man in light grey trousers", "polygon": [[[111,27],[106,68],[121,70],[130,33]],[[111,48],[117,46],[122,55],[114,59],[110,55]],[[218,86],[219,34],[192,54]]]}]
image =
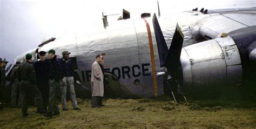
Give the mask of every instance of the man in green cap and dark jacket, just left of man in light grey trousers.
[{"label": "man in green cap and dark jacket, just left of man in light grey trousers", "polygon": [[44,114],[45,117],[52,117],[59,113],[58,107],[58,95],[60,92],[60,66],[57,56],[55,55],[55,50],[51,49],[48,51],[50,57],[49,65],[49,108],[48,113]]}]

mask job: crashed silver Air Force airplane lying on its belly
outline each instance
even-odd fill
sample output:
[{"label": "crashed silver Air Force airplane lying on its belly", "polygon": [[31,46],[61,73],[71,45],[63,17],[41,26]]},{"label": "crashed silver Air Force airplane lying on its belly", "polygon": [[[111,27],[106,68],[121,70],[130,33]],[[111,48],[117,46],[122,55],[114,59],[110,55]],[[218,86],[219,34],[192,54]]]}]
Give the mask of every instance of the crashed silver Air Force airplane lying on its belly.
[{"label": "crashed silver Air Force airplane lying on its belly", "polygon": [[6,76],[17,61],[25,61],[26,53],[35,62],[39,51],[55,49],[57,58],[62,51],[71,52],[78,96],[90,96],[91,65],[99,53],[110,97],[154,97],[170,91],[177,96],[182,87],[240,85],[255,77],[256,8],[151,15],[104,23],[97,32],[49,38],[10,62]]}]

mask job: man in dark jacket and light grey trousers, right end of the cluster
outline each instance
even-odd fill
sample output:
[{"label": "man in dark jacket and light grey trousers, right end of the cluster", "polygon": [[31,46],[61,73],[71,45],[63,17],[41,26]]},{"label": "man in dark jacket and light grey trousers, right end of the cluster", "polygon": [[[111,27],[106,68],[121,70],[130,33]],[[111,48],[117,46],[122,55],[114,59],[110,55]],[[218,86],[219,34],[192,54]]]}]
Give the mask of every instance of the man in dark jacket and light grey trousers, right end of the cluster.
[{"label": "man in dark jacket and light grey trousers, right end of the cluster", "polygon": [[66,104],[66,90],[69,90],[70,99],[72,101],[73,110],[81,110],[77,105],[76,93],[74,88],[74,75],[75,70],[73,69],[73,65],[71,60],[69,59],[70,52],[63,51],[62,59],[60,59],[60,67],[61,70],[61,78],[60,89],[62,90],[62,110],[67,111],[69,108]]}]

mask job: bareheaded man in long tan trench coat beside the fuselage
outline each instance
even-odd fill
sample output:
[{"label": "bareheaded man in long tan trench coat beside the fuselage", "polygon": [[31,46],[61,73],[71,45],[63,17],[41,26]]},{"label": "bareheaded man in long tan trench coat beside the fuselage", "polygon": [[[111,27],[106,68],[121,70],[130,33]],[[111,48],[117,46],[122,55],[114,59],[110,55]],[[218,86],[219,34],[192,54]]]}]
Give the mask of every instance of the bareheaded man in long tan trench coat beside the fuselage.
[{"label": "bareheaded man in long tan trench coat beside the fuselage", "polygon": [[103,62],[102,55],[97,55],[92,64],[91,86],[92,86],[92,107],[101,107],[104,95],[103,72],[99,64]]}]

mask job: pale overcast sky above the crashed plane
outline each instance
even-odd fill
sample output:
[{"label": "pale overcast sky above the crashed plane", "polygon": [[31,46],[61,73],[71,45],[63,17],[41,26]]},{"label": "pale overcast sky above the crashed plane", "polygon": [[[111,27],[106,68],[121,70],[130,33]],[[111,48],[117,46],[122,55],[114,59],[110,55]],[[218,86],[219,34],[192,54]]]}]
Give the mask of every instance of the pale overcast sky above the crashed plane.
[{"label": "pale overcast sky above the crashed plane", "polygon": [[[159,5],[163,15],[173,10],[185,11],[195,7],[255,7],[256,1],[159,0]],[[157,12],[157,0],[0,0],[0,57],[11,61],[23,52],[37,47],[45,37],[103,28],[102,12],[121,14],[122,9],[130,11],[131,18],[137,18],[143,12]]]}]

